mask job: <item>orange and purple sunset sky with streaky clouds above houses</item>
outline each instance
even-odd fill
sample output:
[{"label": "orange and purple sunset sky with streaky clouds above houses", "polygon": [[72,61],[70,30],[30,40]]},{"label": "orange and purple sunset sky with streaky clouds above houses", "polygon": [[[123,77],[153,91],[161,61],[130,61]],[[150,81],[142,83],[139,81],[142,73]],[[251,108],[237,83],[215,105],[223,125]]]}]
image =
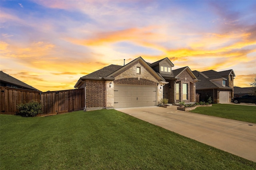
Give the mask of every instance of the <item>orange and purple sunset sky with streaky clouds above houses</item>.
[{"label": "orange and purple sunset sky with streaky clouds above houses", "polygon": [[43,92],[110,64],[168,57],[173,69],[256,73],[256,1],[0,1],[0,70]]}]

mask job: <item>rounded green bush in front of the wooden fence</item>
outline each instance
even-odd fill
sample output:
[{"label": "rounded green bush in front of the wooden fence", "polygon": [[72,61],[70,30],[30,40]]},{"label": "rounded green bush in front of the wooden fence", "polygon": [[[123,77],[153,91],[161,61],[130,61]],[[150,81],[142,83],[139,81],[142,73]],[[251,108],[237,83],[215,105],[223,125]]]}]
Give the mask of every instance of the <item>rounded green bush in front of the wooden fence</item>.
[{"label": "rounded green bush in front of the wooden fence", "polygon": [[32,100],[29,103],[24,102],[23,104],[17,105],[17,115],[23,117],[34,117],[39,113],[42,113],[42,104]]}]

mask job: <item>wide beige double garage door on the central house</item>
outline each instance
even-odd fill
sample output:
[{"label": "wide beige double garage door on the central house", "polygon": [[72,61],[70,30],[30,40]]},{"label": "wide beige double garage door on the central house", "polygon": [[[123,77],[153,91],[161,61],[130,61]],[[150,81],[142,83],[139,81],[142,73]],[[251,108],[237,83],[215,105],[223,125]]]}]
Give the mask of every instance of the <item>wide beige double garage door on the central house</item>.
[{"label": "wide beige double garage door on the central house", "polygon": [[156,106],[156,86],[114,85],[114,108]]}]

